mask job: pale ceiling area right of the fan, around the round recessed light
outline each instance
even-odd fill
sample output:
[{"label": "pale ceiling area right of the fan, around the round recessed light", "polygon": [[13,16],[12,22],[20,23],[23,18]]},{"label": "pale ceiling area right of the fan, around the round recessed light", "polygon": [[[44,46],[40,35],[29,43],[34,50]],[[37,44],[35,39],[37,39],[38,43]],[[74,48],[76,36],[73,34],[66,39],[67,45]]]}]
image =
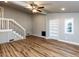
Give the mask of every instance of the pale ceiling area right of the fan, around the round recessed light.
[{"label": "pale ceiling area right of the fan, around the round recessed light", "polygon": [[[79,12],[79,1],[43,1],[37,2],[45,6],[47,12]],[[61,8],[66,8],[62,11]]]}]

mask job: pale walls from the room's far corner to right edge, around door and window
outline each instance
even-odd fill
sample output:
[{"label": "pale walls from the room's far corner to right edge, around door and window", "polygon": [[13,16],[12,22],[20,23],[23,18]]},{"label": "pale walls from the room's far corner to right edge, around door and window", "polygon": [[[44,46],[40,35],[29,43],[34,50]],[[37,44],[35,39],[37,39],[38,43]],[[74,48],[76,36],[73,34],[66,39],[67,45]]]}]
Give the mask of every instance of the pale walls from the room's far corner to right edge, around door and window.
[{"label": "pale walls from the room's far corner to right edge, around door and window", "polygon": [[[74,19],[74,34],[64,33],[64,23],[66,18]],[[41,36],[41,31],[46,30],[46,36],[49,37],[48,22],[50,19],[59,20],[59,38],[57,40],[79,43],[79,13],[50,13],[47,15],[34,15],[33,34]]]}]

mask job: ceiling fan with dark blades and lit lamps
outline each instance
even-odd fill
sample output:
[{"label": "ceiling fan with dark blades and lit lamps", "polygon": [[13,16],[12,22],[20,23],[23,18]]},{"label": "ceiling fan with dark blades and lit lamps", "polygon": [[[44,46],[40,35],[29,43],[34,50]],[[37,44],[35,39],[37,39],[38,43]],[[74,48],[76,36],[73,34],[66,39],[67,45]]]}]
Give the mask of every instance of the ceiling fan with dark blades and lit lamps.
[{"label": "ceiling fan with dark blades and lit lamps", "polygon": [[31,9],[33,13],[41,13],[45,7],[35,4],[34,2],[31,2],[31,3],[28,3],[27,8]]}]

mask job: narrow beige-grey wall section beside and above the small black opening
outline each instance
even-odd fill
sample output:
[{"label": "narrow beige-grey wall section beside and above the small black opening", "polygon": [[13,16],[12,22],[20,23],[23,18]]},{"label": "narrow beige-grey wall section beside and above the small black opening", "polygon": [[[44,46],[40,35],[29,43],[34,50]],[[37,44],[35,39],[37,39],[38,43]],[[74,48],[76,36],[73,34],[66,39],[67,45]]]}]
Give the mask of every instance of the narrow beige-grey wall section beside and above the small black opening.
[{"label": "narrow beige-grey wall section beside and above the small black opening", "polygon": [[36,14],[33,16],[33,34],[41,36],[41,31],[46,31],[46,15]]}]

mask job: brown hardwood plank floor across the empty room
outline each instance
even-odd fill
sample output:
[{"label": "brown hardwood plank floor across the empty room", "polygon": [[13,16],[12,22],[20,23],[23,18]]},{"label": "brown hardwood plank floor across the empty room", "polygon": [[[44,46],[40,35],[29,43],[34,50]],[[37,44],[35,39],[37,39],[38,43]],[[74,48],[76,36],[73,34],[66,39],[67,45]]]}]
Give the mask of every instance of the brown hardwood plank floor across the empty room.
[{"label": "brown hardwood plank floor across the empty room", "polygon": [[78,57],[79,46],[29,36],[0,45],[2,57]]}]

